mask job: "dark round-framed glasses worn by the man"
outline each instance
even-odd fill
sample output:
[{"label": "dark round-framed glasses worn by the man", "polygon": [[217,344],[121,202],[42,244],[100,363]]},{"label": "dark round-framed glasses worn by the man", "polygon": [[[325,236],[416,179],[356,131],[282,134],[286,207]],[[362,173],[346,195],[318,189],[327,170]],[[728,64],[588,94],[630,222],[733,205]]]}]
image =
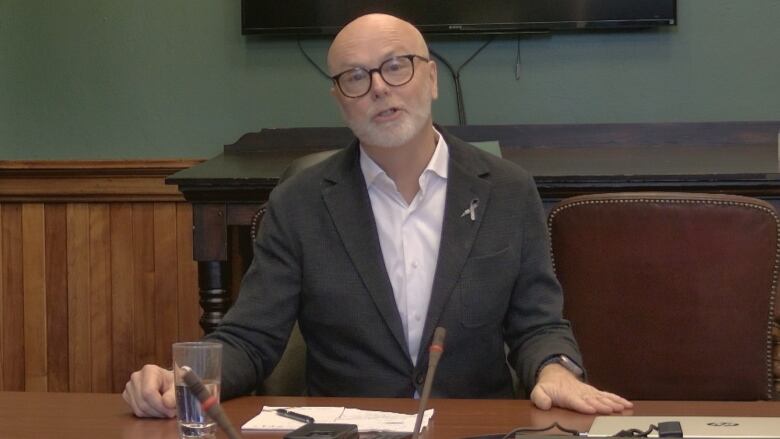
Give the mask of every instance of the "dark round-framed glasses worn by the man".
[{"label": "dark round-framed glasses worn by the man", "polygon": [[414,78],[415,58],[425,62],[430,61],[430,59],[420,55],[399,55],[382,61],[382,64],[379,64],[379,67],[375,69],[355,67],[331,76],[330,79],[336,83],[344,96],[359,98],[365,96],[371,90],[374,72],[379,72],[382,80],[387,85],[393,87],[398,87],[411,81]]}]

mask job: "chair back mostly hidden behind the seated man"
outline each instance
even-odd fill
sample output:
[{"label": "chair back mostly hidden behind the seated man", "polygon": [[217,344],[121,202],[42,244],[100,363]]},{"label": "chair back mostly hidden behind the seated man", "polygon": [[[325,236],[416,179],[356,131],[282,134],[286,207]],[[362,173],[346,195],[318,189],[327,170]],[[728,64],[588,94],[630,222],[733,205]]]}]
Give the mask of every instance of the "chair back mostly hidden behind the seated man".
[{"label": "chair back mostly hidden behind the seated man", "polygon": [[[279,177],[279,183],[295,175],[297,172],[319,163],[333,155],[338,150],[328,150],[303,156],[292,162]],[[250,236],[254,241],[260,231],[260,223],[266,212],[264,203],[252,217]],[[306,393],[306,342],[298,328],[293,326],[287,347],[282,353],[279,363],[263,384],[257,389],[262,395],[301,396]]]}]

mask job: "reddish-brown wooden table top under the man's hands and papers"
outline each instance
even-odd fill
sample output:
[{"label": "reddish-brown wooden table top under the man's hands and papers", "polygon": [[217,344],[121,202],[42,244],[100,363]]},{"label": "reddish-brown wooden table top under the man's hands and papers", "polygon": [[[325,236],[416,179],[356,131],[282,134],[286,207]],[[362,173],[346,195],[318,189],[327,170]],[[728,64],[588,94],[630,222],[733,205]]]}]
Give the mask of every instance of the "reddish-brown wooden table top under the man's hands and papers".
[{"label": "reddish-brown wooden table top under the man's hands and papers", "polygon": [[[224,404],[237,427],[261,406],[347,406],[368,410],[414,413],[410,399],[245,397]],[[435,409],[427,439],[463,438],[504,433],[516,427],[559,424],[585,431],[592,416],[553,409],[541,411],[525,400],[431,400]],[[780,402],[639,401],[629,415],[780,416]],[[245,433],[246,438],[282,437],[275,433]],[[176,439],[176,421],[135,418],[118,394],[0,392],[0,437]],[[220,434],[220,438],[225,436]]]}]

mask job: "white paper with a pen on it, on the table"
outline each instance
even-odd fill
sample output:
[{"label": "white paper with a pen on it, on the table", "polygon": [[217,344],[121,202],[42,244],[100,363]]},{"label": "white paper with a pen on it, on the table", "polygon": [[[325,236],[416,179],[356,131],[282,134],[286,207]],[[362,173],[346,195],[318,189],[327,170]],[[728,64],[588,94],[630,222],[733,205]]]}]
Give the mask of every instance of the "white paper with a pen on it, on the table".
[{"label": "white paper with a pen on it, on the table", "polygon": [[[303,426],[302,422],[278,415],[276,409],[279,408],[311,416],[319,423],[356,424],[359,431],[411,433],[417,419],[417,415],[345,407],[263,407],[260,413],[241,426],[241,429],[247,431],[284,431],[295,430]],[[422,427],[428,425],[431,416],[433,416],[433,409],[426,410],[423,415]]]}]

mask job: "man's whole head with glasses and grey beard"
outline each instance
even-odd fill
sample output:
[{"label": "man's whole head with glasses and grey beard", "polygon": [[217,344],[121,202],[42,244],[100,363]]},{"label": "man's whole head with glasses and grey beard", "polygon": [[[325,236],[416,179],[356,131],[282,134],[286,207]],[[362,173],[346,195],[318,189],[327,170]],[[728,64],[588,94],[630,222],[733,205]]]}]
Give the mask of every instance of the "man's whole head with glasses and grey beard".
[{"label": "man's whole head with glasses and grey beard", "polygon": [[438,81],[420,31],[387,14],[359,17],[334,38],[328,69],[339,75],[330,93],[364,150],[380,161],[380,149],[414,151],[412,161],[424,167],[435,148],[431,104]]}]

